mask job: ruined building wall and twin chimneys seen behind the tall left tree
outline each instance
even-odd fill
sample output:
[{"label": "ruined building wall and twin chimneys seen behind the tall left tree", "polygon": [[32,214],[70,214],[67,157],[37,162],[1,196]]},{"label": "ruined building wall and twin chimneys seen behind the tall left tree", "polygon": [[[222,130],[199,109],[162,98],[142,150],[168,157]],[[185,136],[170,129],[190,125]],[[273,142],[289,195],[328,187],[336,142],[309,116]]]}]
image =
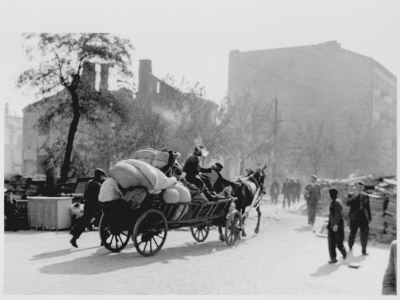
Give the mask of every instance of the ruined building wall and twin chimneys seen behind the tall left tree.
[{"label": "ruined building wall and twin chimneys seen behind the tall left tree", "polygon": [[[88,90],[108,90],[108,65],[101,64],[99,72],[95,70],[95,64],[85,62],[83,64],[81,81]],[[96,74],[99,73],[99,74]],[[118,93],[115,91],[113,93]],[[68,102],[70,95],[65,89],[60,92],[26,106],[23,109],[23,141],[22,141],[22,160],[24,173],[44,174],[46,172],[43,166],[44,160],[48,159],[48,149],[56,143],[66,143],[69,124],[71,118],[55,117],[52,122],[58,123],[57,126],[45,132],[40,132],[37,128],[37,121],[43,115],[43,111],[54,107],[57,103]],[[101,112],[99,112],[101,113]],[[79,120],[78,128],[73,142],[73,155],[80,160],[93,161],[93,168],[99,167],[107,170],[110,167],[110,157],[99,151],[95,142],[99,139],[98,132],[110,132],[111,124],[104,116],[103,122],[99,128],[95,129],[84,120]],[[72,157],[73,157],[72,155]],[[52,158],[55,163],[62,163],[63,155]],[[84,165],[82,163],[82,165]],[[60,169],[55,168],[55,176],[58,177]],[[92,175],[92,170],[87,170],[88,176]]]}]

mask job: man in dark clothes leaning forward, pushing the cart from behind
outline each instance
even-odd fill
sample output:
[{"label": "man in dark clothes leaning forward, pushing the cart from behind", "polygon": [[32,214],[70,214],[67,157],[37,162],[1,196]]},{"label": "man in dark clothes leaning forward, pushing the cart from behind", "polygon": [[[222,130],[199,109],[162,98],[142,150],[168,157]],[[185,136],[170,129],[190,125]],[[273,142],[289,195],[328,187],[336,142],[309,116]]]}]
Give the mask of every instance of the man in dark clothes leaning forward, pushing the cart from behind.
[{"label": "man in dark clothes leaning forward, pushing the cart from behind", "polygon": [[98,193],[100,191],[101,183],[104,181],[104,176],[105,172],[102,169],[95,169],[94,178],[87,182],[86,189],[83,193],[83,216],[78,219],[70,232],[70,234],[72,234],[72,238],[69,242],[76,248],[78,247],[76,244],[76,239],[78,239],[84,229],[90,225],[90,221],[99,207]]}]

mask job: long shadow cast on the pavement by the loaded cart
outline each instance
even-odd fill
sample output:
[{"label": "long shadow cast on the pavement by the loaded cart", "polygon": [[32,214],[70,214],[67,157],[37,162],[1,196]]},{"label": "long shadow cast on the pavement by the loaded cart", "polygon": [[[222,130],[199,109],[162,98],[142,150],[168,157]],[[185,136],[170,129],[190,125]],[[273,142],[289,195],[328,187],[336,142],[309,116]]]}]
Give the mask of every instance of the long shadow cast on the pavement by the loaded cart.
[{"label": "long shadow cast on the pavement by the loaded cart", "polygon": [[[245,242],[246,239],[238,240],[233,246],[228,246],[222,241],[212,241],[205,243],[186,243],[184,246],[162,248],[154,256],[143,257],[136,251],[133,253],[111,253],[105,248],[98,249],[90,256],[79,257],[70,261],[63,261],[49,264],[40,268],[41,273],[45,274],[99,274],[112,272],[124,268],[139,267],[151,263],[168,263],[172,259],[185,259],[186,256],[203,256],[212,252],[223,251],[236,247],[238,244]],[[134,247],[132,243],[128,244],[125,249]],[[87,249],[87,248],[85,248]],[[76,251],[76,250],[74,250]],[[69,250],[60,250],[51,253],[43,253],[40,255],[64,255]],[[47,256],[48,257],[48,256]],[[44,258],[44,256],[43,256]]]}]

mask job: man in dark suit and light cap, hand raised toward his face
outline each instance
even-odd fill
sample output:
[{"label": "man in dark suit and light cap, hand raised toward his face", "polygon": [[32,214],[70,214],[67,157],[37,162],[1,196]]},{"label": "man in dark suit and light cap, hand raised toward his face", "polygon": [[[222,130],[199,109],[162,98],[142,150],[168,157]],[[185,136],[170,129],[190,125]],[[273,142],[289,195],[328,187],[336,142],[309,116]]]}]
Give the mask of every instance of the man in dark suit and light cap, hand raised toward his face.
[{"label": "man in dark suit and light cap, hand raised toward his face", "polygon": [[369,208],[369,196],[363,192],[364,183],[359,180],[355,183],[355,191],[350,194],[346,204],[350,206],[348,211],[348,220],[350,221],[350,234],[348,235],[348,247],[350,251],[354,244],[355,234],[358,227],[360,231],[361,252],[366,253],[366,244],[368,241],[369,221],[371,220],[371,210]]}]

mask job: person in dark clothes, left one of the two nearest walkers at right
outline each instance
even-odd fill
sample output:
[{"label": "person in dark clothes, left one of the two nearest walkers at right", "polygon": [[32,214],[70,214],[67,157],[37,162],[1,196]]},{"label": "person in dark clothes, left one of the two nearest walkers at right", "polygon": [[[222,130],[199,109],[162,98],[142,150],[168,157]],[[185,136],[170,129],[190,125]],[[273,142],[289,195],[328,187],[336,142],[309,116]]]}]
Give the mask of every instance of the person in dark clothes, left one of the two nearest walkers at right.
[{"label": "person in dark clothes, left one of the two nearest walkers at right", "polygon": [[343,207],[340,199],[337,198],[337,190],[330,189],[329,196],[332,202],[329,206],[329,221],[328,221],[328,249],[330,260],[329,263],[337,262],[336,247],[346,259],[346,249],[343,246],[344,240],[344,221]]}]

